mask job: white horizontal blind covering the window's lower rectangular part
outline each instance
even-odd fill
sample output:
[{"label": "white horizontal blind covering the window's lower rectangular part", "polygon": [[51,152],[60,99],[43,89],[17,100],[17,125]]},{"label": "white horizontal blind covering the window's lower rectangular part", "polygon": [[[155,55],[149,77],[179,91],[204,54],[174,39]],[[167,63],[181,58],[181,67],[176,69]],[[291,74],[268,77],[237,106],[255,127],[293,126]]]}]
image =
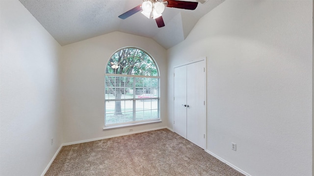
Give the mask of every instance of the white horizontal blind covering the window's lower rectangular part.
[{"label": "white horizontal blind covering the window's lower rectangular part", "polygon": [[160,119],[157,76],[105,75],[105,126]]}]

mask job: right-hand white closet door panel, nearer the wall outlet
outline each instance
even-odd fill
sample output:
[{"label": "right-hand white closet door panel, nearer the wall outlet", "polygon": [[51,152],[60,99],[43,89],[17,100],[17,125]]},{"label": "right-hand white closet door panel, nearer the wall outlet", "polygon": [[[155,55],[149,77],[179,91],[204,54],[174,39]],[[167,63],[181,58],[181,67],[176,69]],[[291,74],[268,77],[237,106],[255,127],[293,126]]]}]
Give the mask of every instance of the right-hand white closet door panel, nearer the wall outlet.
[{"label": "right-hand white closet door panel, nearer the wall outlet", "polygon": [[186,67],[186,139],[205,149],[205,61]]}]

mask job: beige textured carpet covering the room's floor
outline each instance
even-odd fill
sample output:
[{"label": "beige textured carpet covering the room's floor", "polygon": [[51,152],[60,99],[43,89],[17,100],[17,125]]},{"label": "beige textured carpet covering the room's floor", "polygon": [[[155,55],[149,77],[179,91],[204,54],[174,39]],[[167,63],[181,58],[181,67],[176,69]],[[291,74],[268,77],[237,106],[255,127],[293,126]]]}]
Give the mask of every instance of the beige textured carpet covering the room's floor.
[{"label": "beige textured carpet covering the room's floor", "polygon": [[243,176],[167,129],[64,146],[46,176]]}]

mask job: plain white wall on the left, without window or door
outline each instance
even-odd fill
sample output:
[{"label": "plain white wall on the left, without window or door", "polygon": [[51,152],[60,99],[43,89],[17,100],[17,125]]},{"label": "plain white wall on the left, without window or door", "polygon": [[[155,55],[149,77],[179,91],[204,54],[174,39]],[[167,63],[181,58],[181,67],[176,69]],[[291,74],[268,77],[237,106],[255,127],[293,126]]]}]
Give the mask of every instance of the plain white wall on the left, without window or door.
[{"label": "plain white wall on the left, without window or door", "polygon": [[0,26],[0,175],[39,176],[62,142],[61,46],[18,0],[0,1]]}]

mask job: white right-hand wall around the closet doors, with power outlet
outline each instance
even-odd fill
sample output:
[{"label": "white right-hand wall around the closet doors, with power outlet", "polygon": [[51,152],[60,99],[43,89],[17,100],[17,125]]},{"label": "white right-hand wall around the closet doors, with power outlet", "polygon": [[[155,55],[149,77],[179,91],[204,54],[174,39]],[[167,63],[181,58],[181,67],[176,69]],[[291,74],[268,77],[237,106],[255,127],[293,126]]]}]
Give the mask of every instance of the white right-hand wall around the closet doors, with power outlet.
[{"label": "white right-hand wall around the closet doors, with power outlet", "polygon": [[312,0],[226,0],[168,50],[168,106],[173,66],[207,56],[207,150],[249,175],[312,175],[312,12]]}]

